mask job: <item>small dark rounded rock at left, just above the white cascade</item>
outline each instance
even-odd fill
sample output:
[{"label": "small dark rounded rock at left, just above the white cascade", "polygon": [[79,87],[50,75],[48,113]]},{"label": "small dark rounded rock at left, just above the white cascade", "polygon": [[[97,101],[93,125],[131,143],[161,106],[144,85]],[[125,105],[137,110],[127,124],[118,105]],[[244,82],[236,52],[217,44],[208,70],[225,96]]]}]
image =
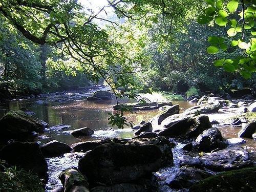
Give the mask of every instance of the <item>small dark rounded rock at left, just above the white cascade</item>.
[{"label": "small dark rounded rock at left, just above the white cascade", "polygon": [[72,151],[72,148],[68,144],[56,140],[41,145],[40,149],[42,155],[45,157],[58,157]]}]

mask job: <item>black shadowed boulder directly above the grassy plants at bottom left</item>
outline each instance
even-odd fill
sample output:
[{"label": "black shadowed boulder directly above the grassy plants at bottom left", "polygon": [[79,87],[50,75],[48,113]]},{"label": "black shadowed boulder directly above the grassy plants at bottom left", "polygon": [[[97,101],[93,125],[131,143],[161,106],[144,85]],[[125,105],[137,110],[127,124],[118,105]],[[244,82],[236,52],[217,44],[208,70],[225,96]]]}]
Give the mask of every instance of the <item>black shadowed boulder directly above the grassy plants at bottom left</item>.
[{"label": "black shadowed boulder directly above the grassy plants at bottom left", "polygon": [[30,170],[42,178],[47,177],[47,162],[40,151],[38,143],[13,142],[0,150],[0,159],[9,165],[15,165]]}]

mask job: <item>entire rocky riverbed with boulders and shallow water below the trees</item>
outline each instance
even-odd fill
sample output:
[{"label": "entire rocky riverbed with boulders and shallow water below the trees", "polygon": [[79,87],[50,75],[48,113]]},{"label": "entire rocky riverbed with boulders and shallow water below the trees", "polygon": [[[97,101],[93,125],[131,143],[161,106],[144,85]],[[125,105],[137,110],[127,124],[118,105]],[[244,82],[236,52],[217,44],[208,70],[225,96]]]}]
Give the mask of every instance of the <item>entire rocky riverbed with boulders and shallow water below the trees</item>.
[{"label": "entire rocky riverbed with boulders and shallow water below the trees", "polygon": [[[0,158],[36,168],[43,178],[48,174],[46,191],[62,191],[62,184],[66,191],[186,191],[222,172],[255,173],[246,169],[256,160],[255,100],[203,96],[192,102],[129,103],[137,114],[126,116],[136,125],[119,130],[107,121],[119,106],[109,93],[100,98],[92,92],[10,102],[6,112],[13,112],[2,110],[0,120],[8,138],[1,139]],[[48,168],[40,168],[42,162]]]}]

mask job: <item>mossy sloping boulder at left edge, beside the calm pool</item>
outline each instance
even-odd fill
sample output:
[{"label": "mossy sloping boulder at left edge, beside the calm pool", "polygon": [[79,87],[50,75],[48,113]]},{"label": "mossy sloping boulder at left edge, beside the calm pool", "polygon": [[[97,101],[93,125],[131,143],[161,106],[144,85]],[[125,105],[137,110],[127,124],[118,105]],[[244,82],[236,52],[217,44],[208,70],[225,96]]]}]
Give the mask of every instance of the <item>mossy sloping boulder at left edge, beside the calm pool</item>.
[{"label": "mossy sloping boulder at left edge, beside the calm pool", "polygon": [[42,132],[48,124],[25,112],[9,111],[0,119],[1,136],[16,138],[32,134],[32,132]]}]

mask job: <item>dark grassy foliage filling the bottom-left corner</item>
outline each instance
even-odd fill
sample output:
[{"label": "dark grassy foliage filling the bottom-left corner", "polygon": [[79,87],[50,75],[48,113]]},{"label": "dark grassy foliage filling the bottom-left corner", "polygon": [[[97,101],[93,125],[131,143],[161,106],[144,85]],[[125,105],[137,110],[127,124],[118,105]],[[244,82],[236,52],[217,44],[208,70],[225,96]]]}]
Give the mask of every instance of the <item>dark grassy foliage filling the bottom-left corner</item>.
[{"label": "dark grassy foliage filling the bottom-left corner", "polygon": [[23,169],[17,169],[15,166],[6,167],[3,162],[0,162],[0,168],[4,168],[0,174],[0,191],[45,191],[37,175]]}]

